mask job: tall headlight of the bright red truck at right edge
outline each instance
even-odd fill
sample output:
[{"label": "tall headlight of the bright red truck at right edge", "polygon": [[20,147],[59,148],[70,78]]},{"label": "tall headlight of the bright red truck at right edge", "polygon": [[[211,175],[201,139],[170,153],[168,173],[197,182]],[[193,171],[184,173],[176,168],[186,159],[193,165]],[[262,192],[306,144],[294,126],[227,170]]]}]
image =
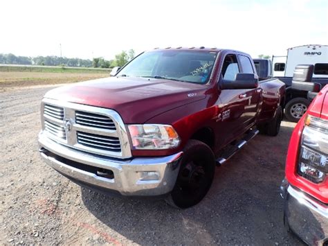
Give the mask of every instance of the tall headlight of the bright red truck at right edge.
[{"label": "tall headlight of the bright red truck at right edge", "polygon": [[322,182],[328,173],[328,121],[308,116],[302,133],[298,175]]}]

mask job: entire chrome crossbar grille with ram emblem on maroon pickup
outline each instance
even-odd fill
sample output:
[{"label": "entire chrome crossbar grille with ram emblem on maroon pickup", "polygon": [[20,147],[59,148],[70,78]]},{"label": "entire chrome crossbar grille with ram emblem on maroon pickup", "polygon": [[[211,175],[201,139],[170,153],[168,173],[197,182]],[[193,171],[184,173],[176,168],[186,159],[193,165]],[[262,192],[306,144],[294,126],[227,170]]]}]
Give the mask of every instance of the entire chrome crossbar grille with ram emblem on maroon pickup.
[{"label": "entire chrome crossbar grille with ram emblem on maroon pickup", "polygon": [[44,98],[42,129],[49,139],[75,150],[132,157],[125,124],[113,109]]}]

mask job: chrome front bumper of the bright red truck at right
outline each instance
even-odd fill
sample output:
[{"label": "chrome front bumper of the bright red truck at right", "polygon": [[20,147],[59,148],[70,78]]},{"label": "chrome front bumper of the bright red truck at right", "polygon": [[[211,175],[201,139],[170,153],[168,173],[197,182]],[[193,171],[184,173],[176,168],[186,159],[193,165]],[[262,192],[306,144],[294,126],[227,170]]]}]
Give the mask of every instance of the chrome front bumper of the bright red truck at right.
[{"label": "chrome front bumper of the bright red truck at right", "polygon": [[281,191],[284,219],[289,228],[308,245],[328,243],[328,206],[286,182]]}]

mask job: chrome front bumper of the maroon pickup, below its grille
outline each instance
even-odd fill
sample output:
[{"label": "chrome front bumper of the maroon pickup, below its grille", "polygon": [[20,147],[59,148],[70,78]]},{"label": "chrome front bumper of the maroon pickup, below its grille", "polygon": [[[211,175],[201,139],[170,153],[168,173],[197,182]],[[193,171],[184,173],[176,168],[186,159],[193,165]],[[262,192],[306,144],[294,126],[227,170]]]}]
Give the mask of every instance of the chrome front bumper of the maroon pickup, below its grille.
[{"label": "chrome front bumper of the maroon pickup, below its grille", "polygon": [[[179,160],[182,152],[167,157],[140,157],[130,160],[113,160],[98,155],[74,150],[62,146],[40,132],[40,154],[44,161],[58,172],[91,186],[118,191],[121,195],[153,196],[163,195],[172,191],[179,173]],[[100,177],[97,173],[75,168],[63,161],[63,157],[79,164],[111,170],[113,178]],[[67,162],[67,163],[65,163]],[[152,178],[145,173],[152,172]]]}]

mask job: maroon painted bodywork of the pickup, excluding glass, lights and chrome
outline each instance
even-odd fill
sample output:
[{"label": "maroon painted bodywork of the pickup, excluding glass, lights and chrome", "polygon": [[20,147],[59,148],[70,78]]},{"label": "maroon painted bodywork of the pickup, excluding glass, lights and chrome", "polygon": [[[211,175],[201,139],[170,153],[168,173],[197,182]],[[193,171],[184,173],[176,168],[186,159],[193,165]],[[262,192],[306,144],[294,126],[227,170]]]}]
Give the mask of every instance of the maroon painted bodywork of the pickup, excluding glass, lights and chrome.
[{"label": "maroon painted bodywork of the pickup, excluding glass, lights and chrome", "polygon": [[[179,49],[189,50],[189,49]],[[158,50],[163,51],[163,50]],[[170,51],[168,49],[167,51]],[[218,53],[206,85],[153,78],[112,77],[81,82],[49,91],[45,97],[116,110],[125,124],[173,125],[181,144],[172,150],[132,150],[136,156],[165,156],[183,150],[198,130],[212,132],[217,152],[257,122],[268,122],[285,96],[285,85],[275,78],[259,82],[255,89],[219,89],[226,55],[249,55],[239,51],[194,49]],[[253,64],[253,63],[252,63]],[[255,65],[253,64],[253,69]],[[192,96],[188,96],[192,94]],[[240,98],[246,94],[246,98]],[[223,112],[228,118],[219,120]]]}]

